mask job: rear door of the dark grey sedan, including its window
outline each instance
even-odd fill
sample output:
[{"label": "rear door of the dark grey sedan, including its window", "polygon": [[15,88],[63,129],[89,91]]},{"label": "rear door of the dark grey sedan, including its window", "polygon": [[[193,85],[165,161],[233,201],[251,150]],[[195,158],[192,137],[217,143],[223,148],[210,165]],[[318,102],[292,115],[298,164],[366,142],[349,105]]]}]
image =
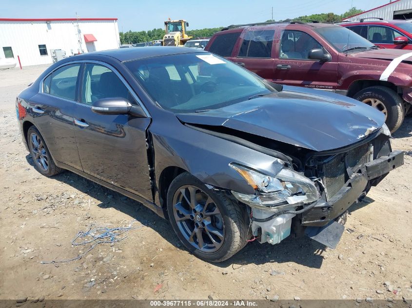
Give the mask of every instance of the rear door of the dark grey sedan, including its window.
[{"label": "rear door of the dark grey sedan, including its window", "polygon": [[81,170],[73,114],[76,107],[78,72],[81,64],[65,64],[40,83],[39,93],[30,99],[33,121],[53,159]]}]

